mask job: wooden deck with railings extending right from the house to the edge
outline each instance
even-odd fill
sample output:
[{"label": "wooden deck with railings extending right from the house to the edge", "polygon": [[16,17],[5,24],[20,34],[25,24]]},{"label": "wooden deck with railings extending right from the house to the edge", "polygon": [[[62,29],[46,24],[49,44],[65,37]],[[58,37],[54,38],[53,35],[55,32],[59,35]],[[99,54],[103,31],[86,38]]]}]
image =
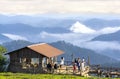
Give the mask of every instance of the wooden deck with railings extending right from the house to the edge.
[{"label": "wooden deck with railings extending right from the house to the edge", "polygon": [[[104,69],[104,71],[102,71]],[[85,66],[84,71],[73,71],[73,66],[63,66],[62,68],[52,69],[51,72],[46,71],[46,73],[51,74],[70,74],[70,75],[79,75],[79,76],[90,76],[91,74],[95,74],[96,76],[101,77],[120,77],[120,71],[115,71],[116,68],[95,68],[92,69],[89,66]]]}]

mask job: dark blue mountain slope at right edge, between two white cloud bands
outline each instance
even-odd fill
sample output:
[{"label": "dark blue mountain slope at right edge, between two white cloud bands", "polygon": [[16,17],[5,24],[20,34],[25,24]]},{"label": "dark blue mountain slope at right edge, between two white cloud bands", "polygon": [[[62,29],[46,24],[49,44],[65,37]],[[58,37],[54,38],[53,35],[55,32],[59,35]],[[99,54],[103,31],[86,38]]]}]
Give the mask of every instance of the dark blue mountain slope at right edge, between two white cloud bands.
[{"label": "dark blue mountain slope at right edge, between two white cloud bands", "polygon": [[120,31],[111,34],[99,35],[92,39],[92,41],[117,41],[120,42]]}]

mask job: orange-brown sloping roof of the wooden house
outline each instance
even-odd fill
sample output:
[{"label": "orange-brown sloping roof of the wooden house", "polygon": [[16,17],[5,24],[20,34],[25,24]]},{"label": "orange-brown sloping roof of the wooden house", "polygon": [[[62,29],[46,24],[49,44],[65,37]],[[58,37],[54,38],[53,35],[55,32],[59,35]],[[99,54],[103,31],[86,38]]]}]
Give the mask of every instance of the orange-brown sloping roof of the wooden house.
[{"label": "orange-brown sloping roof of the wooden house", "polygon": [[63,54],[63,51],[46,43],[33,44],[27,47],[46,57],[54,57]]}]

